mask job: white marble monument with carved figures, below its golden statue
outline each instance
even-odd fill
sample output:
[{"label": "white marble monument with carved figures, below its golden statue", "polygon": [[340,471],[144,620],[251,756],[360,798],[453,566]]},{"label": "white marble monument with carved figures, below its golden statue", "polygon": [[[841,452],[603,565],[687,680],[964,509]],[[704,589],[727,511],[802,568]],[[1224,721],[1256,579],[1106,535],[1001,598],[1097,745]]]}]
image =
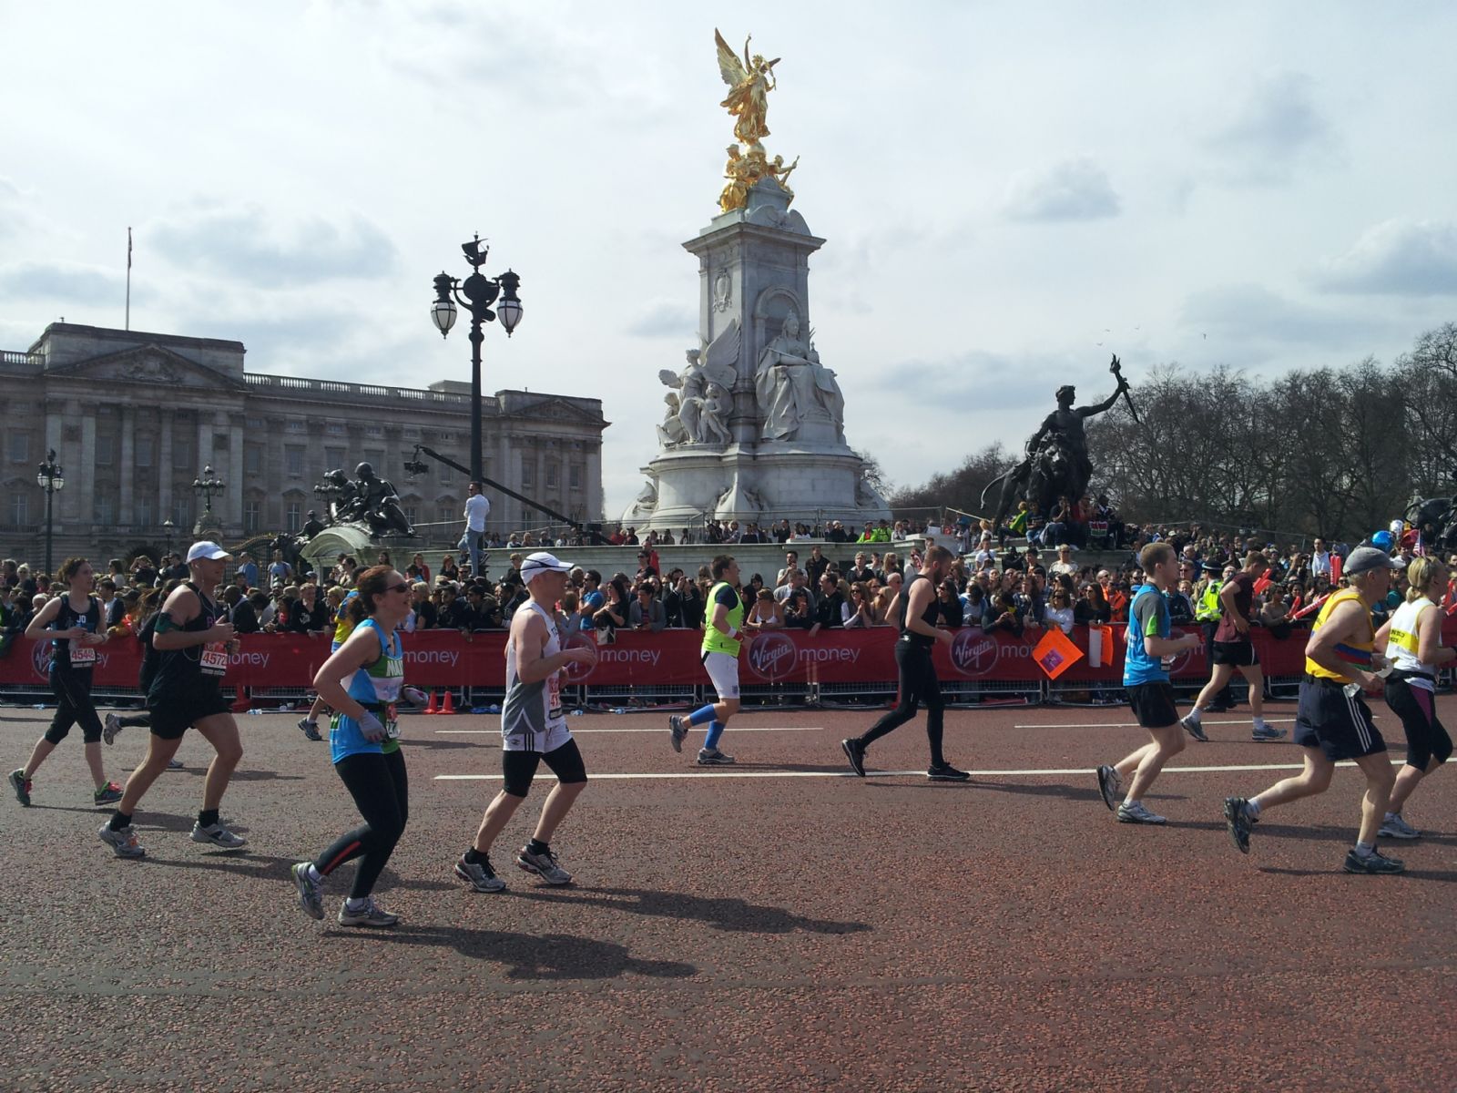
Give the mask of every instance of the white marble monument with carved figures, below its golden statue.
[{"label": "white marble monument with carved figures, below its golden statue", "polygon": [[890,516],[845,443],[845,398],[814,350],[809,256],[823,245],[759,178],[736,208],[683,243],[698,256],[701,345],[663,369],[666,414],[647,485],[622,522],[696,528]]}]

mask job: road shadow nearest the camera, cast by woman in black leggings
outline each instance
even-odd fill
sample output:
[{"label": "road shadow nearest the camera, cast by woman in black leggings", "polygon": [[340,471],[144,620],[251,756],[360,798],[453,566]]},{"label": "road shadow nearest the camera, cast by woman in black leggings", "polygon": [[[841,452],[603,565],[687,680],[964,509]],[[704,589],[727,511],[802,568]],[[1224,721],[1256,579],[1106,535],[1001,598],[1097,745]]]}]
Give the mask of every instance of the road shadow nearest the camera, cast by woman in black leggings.
[{"label": "road shadow nearest the camera, cast by woman in black leggings", "polygon": [[[331,931],[329,936],[338,936]],[[360,937],[360,931],[351,931]],[[573,934],[517,934],[501,930],[401,924],[372,931],[370,941],[455,949],[472,960],[506,965],[507,979],[615,979],[647,975],[656,979],[685,979],[698,969],[680,960],[644,960],[627,946]]]}]

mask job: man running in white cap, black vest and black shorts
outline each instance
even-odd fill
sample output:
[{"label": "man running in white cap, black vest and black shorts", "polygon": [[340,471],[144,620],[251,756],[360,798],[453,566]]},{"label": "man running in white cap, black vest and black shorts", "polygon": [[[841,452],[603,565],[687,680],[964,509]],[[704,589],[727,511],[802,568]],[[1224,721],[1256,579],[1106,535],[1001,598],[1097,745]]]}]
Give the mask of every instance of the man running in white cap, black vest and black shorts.
[{"label": "man running in white cap, black vest and black shorts", "polygon": [[172,590],[157,615],[152,643],[162,656],[147,691],[147,710],[152,714],[147,758],[131,772],[117,812],[99,832],[101,841],[117,857],[140,858],[146,854],[131,829],[131,816],[152,783],[168,768],[189,727],[197,729],[217,752],[207,768],[203,809],[192,825],[192,841],[224,850],[236,850],[248,842],[224,828],[217,815],[227,781],[243,758],[243,745],[221,689],[227,654],[236,644],[233,627],[217,621],[217,605],[204,589],[217,587],[230,558],[216,542],[192,544],[186,555],[191,580]]}]

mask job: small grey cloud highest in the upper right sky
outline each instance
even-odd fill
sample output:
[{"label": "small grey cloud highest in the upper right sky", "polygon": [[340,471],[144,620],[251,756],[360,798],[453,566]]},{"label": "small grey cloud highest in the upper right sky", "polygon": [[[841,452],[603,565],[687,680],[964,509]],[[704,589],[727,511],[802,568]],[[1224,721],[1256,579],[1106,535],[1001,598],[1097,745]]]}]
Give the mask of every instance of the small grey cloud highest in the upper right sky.
[{"label": "small grey cloud highest in the upper right sky", "polygon": [[1269,73],[1254,82],[1234,115],[1206,140],[1225,159],[1228,181],[1284,182],[1300,160],[1333,147],[1335,136],[1316,103],[1314,86],[1310,76],[1294,71]]}]

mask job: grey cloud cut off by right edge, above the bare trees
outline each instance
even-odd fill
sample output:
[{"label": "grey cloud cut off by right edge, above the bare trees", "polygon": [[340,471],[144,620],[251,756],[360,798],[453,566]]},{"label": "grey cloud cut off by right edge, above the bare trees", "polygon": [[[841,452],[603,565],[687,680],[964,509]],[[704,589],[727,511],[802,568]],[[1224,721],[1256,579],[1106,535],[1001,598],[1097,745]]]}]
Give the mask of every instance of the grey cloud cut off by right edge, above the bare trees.
[{"label": "grey cloud cut off by right edge, above the bare trees", "polygon": [[1327,291],[1391,296],[1457,293],[1457,223],[1386,220],[1368,227],[1316,275]]}]

